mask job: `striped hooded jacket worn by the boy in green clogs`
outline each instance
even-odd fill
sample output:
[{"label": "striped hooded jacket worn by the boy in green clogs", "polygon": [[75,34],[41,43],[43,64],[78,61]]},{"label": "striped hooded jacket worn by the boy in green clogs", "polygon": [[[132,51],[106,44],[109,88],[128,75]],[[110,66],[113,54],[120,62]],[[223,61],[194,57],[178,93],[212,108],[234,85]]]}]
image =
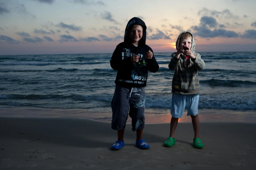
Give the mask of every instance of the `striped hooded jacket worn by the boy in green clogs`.
[{"label": "striped hooded jacket worn by the boy in green clogs", "polygon": [[[182,32],[182,33],[185,33],[185,32]],[[180,35],[178,36],[178,39],[176,41],[177,50],[179,48]],[[179,59],[177,59],[175,56],[176,52],[174,52],[171,55],[171,61],[168,67],[170,70],[175,70],[175,73],[172,79],[173,93],[199,94],[200,87],[199,87],[197,70],[203,70],[205,64],[204,64],[204,61],[201,59],[201,55],[195,52],[195,46],[196,46],[195,39],[192,35],[191,51],[196,56],[196,60],[193,62],[191,58],[189,58],[190,64],[187,66],[187,68],[185,66],[185,62],[187,60],[186,56],[184,56],[183,54],[180,54]]]}]

